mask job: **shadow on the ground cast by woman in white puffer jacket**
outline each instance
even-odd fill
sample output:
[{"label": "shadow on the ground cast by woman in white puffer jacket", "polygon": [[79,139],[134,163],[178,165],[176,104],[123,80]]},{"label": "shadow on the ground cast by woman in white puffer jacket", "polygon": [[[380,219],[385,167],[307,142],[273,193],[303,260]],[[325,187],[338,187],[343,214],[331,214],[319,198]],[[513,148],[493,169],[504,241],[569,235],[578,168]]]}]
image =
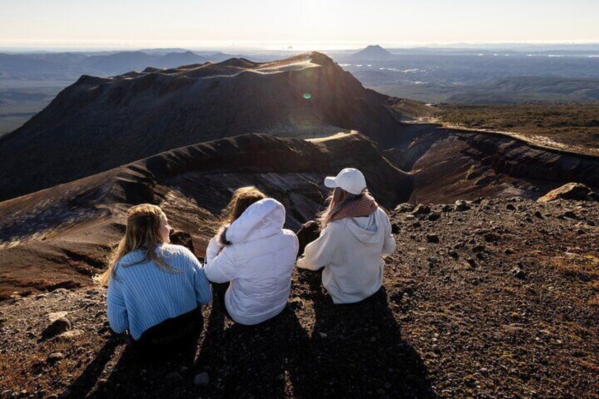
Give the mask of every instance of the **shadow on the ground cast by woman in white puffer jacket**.
[{"label": "shadow on the ground cast by woman in white puffer jacket", "polygon": [[207,371],[210,383],[196,393],[210,398],[285,398],[290,396],[290,357],[301,355],[309,337],[289,305],[256,326],[227,318],[213,301],[206,336],[194,369]]}]

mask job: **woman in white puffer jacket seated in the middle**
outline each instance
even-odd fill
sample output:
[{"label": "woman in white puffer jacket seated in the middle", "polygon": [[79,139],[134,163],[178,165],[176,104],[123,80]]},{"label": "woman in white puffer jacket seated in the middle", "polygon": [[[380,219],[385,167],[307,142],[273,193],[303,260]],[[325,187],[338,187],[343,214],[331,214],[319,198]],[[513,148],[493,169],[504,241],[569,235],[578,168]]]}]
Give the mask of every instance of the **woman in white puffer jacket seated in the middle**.
[{"label": "woman in white puffer jacket seated in the middle", "polygon": [[233,193],[204,266],[208,280],[223,284],[215,292],[233,321],[258,324],[285,308],[298,246],[284,224],[280,202],[253,186]]}]

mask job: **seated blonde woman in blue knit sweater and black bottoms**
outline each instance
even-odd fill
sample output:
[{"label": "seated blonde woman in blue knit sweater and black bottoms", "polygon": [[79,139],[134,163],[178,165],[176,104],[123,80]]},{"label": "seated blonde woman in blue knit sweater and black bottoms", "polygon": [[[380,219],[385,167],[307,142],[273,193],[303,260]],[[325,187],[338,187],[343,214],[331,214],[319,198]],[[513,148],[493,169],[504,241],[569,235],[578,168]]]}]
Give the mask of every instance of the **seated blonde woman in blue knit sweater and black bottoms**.
[{"label": "seated blonde woman in blue knit sweater and black bottoms", "polygon": [[189,249],[170,244],[170,230],[158,206],[132,207],[125,235],[100,277],[108,286],[112,330],[129,330],[135,346],[148,352],[193,345],[203,326],[200,306],[212,299],[201,264]]}]

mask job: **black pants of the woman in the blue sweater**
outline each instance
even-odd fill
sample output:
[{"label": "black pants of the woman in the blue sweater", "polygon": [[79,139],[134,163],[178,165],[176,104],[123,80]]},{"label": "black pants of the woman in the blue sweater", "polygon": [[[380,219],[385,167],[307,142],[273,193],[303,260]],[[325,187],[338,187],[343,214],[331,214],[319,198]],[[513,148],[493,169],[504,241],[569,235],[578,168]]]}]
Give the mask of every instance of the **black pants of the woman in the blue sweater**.
[{"label": "black pants of the woman in the blue sweater", "polygon": [[198,343],[203,328],[200,306],[177,317],[148,328],[133,343],[141,355],[162,357],[176,352],[192,350]]}]

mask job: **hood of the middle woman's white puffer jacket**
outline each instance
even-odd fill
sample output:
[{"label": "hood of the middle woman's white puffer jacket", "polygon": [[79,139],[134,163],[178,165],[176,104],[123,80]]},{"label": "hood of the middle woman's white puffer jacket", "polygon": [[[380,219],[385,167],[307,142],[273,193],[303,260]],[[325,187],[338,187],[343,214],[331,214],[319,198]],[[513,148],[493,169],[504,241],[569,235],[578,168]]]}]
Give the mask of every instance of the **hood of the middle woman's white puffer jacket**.
[{"label": "hood of the middle woman's white puffer jacket", "polygon": [[285,207],[273,198],[251,204],[227,229],[227,241],[232,244],[271,237],[283,230]]}]

